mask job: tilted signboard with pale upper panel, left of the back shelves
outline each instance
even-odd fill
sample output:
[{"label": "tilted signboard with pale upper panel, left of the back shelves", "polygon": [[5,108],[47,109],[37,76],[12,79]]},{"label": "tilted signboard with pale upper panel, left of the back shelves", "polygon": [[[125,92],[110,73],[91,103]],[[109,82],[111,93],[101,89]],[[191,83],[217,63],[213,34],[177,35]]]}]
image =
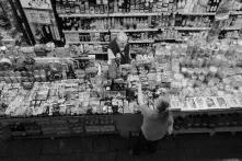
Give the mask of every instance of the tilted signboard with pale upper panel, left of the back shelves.
[{"label": "tilted signboard with pale upper panel, left of the back shelves", "polygon": [[20,0],[37,44],[60,41],[50,0]]}]

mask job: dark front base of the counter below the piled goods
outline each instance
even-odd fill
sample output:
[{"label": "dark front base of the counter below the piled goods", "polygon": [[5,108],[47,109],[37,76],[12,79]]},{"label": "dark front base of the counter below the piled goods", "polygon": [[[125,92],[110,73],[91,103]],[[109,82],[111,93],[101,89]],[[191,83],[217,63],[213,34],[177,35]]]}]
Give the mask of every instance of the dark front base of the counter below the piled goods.
[{"label": "dark front base of the counter below the piled goods", "polygon": [[[173,135],[242,131],[242,110],[175,112]],[[82,137],[116,134],[123,137],[136,136],[142,123],[141,114],[111,114],[47,117],[1,117],[0,137],[50,138]]]}]

